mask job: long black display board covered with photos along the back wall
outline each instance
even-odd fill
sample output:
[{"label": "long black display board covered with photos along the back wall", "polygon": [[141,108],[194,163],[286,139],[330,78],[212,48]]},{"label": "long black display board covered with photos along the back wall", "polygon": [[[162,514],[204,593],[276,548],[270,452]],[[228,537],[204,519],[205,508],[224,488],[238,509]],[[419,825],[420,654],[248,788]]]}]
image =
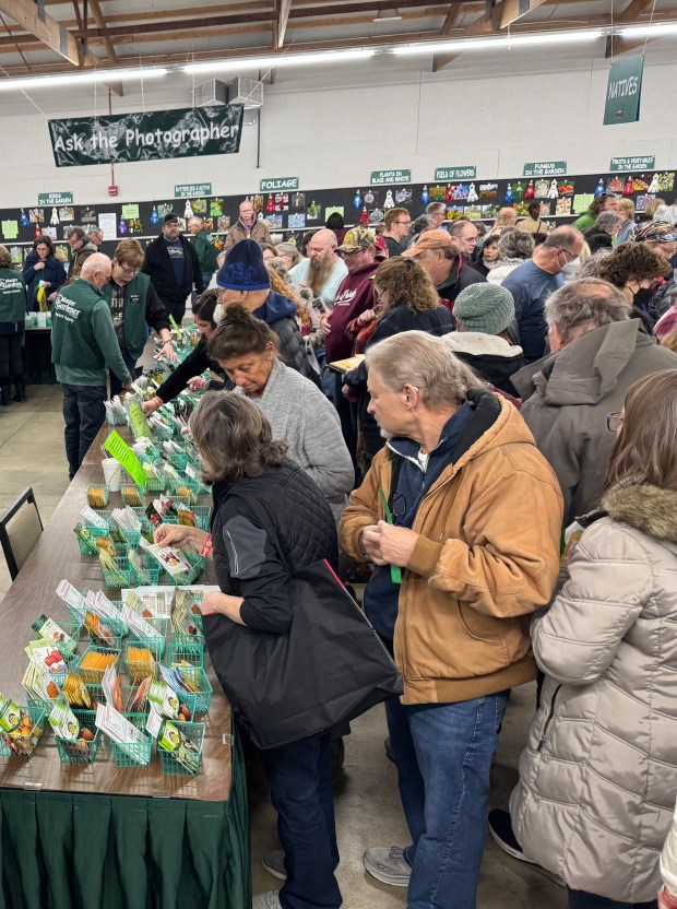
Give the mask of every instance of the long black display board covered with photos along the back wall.
[{"label": "long black display board covered with photos along the back wall", "polygon": [[[518,215],[526,214],[531,201],[541,203],[541,217],[551,225],[572,222],[592,200],[595,191],[610,191],[632,199],[642,211],[656,194],[672,201],[675,194],[674,172],[643,174],[583,174],[577,176],[535,177],[528,179],[480,179],[450,184],[407,184],[392,186],[361,186],[341,189],[300,189],[280,193],[250,193],[274,234],[298,241],[304,233],[322,227],[332,211],[339,211],[346,226],[367,220],[372,226],[380,223],[388,208],[402,205],[415,219],[425,212],[430,201],[444,202],[450,219],[465,216],[477,221],[492,221],[499,208],[513,205]],[[142,246],[161,232],[163,215],[173,211],[179,219],[199,214],[206,219],[207,231],[217,248],[237,220],[244,196],[212,196],[201,199],[166,197],[135,203],[109,202],[95,205],[55,205],[0,210],[2,244],[20,267],[35,237],[45,228],[54,233],[60,257],[68,259],[70,249],[66,231],[72,225],[98,226],[99,217],[108,215],[116,225],[116,239],[104,243],[103,251],[111,256],[117,243],[127,237],[138,238]],[[131,216],[130,205],[138,213]],[[12,226],[16,224],[16,236]],[[185,225],[182,225],[185,226]]]}]

